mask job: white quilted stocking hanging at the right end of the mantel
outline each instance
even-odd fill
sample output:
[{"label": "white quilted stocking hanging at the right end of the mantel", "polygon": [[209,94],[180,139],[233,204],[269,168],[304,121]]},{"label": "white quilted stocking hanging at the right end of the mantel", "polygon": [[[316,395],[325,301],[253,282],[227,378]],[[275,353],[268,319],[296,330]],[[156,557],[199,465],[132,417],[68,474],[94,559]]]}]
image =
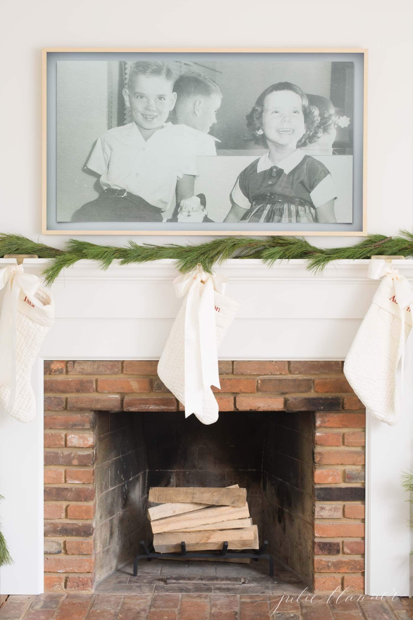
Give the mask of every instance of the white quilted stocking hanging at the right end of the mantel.
[{"label": "white quilted stocking hanging at the right end of the mantel", "polygon": [[396,424],[401,414],[396,368],[412,325],[407,302],[402,308],[398,303],[402,296],[406,298],[406,286],[396,294],[397,287],[396,283],[395,290],[390,273],[383,278],[344,362],[344,374],[355,394],[376,418],[389,425]]}]

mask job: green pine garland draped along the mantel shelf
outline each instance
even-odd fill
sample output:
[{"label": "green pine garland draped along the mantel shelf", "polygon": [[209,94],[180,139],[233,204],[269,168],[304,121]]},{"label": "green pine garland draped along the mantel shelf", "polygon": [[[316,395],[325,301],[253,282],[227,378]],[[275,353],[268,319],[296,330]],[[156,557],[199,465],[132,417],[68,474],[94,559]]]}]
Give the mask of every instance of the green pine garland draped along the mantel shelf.
[{"label": "green pine garland draped along the mantel shelf", "polygon": [[266,265],[276,260],[305,259],[307,268],[321,273],[333,260],[370,259],[376,254],[413,256],[413,234],[402,230],[398,237],[370,234],[363,241],[350,247],[323,249],[311,246],[304,237],[224,237],[198,245],[167,244],[139,246],[129,240],[126,247],[98,246],[88,241],[69,239],[64,250],[36,243],[19,234],[0,233],[0,257],[4,254],[37,254],[41,259],[51,259],[43,275],[48,285],[58,277],[62,269],[71,267],[77,260],[96,260],[100,268],[107,269],[113,260],[121,265],[143,263],[151,260],[173,259],[181,273],[191,271],[201,263],[204,271],[211,273],[214,264],[228,259],[261,259]]}]

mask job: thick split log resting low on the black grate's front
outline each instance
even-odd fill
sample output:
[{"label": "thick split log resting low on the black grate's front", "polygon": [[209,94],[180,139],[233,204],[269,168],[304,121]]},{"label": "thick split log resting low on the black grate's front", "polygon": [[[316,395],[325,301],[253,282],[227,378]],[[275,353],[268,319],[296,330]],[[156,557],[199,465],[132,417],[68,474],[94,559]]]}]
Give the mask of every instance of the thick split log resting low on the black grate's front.
[{"label": "thick split log resting low on the black grate's front", "polygon": [[160,553],[181,551],[181,541],[185,541],[187,551],[214,551],[222,549],[228,541],[228,549],[258,549],[258,528],[251,525],[245,529],[225,529],[206,532],[167,532],[155,534],[154,548]]}]

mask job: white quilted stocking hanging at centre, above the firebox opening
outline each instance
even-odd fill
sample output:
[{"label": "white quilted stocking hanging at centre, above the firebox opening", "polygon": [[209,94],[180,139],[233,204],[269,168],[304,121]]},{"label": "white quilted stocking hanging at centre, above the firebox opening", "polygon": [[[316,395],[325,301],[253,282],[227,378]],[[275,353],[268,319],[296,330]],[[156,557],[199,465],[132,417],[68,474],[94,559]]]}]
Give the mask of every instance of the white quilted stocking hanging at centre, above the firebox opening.
[{"label": "white quilted stocking hanging at centre, above the firebox opening", "polygon": [[[218,349],[222,343],[222,340],[224,340],[228,327],[237,314],[240,304],[233,301],[233,299],[224,296],[224,294],[217,293],[217,291],[214,291],[213,294],[213,303],[215,304],[215,308],[212,308],[212,306],[211,308],[212,312],[214,312],[215,334],[212,333],[212,337],[215,336]],[[187,312],[187,302],[188,296],[186,296],[183,301],[180,311],[173,322],[172,330],[158,364],[159,378],[183,405],[185,405],[185,393],[188,394],[188,391],[185,390],[185,350],[188,352],[188,340],[187,347],[185,346],[185,317]],[[202,330],[202,324],[200,329]],[[212,325],[212,329],[214,329],[214,325]],[[192,363],[192,360],[201,360],[201,347],[202,338],[199,340],[191,339],[190,348],[193,357],[191,358],[190,363]],[[216,354],[215,363],[217,364]],[[216,385],[216,383],[212,383],[212,381],[211,384]],[[202,394],[198,399],[200,404],[194,410],[188,410],[187,406],[185,410],[186,417],[193,413],[204,424],[212,424],[217,421],[218,404],[214,393],[211,390],[211,384],[207,387],[201,387]],[[189,409],[191,408],[189,407]]]}]

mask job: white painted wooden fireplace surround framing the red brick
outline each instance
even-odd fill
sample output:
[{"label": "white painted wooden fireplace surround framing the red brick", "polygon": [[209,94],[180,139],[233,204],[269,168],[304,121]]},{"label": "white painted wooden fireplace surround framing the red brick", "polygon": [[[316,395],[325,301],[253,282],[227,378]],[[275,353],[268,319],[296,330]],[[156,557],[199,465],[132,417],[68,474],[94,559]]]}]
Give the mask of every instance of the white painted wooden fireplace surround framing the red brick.
[{"label": "white painted wooden fireplace surround framing the red brick", "polygon": [[[12,259],[0,259],[0,268]],[[47,260],[25,260],[41,275]],[[413,260],[394,261],[413,282]],[[368,260],[329,264],[312,275],[305,261],[228,260],[216,272],[241,302],[219,356],[227,360],[342,360],[378,283]],[[37,365],[33,388],[38,415],[22,424],[0,414],[1,529],[14,565],[0,568],[0,594],[43,592],[43,361],[154,360],[167,339],[181,300],[175,298],[173,261],[118,262],[106,271],[80,260],[51,291],[56,321]],[[1,293],[0,293],[1,294]],[[408,596],[411,533],[401,473],[412,468],[412,337],[407,343],[404,412],[396,427],[367,412],[365,593]]]}]

